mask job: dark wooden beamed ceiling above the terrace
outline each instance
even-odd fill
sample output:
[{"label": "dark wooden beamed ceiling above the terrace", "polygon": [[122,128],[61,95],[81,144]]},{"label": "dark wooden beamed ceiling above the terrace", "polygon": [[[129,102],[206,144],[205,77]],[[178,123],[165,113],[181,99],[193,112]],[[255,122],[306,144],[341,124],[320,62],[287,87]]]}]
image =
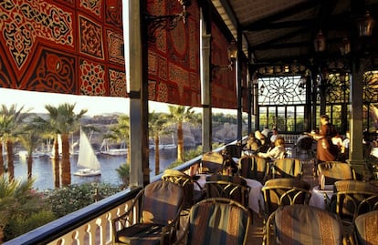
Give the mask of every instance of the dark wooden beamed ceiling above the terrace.
[{"label": "dark wooden beamed ceiling above the terrace", "polygon": [[257,67],[306,64],[317,56],[314,39],[320,30],[327,43],[322,57],[341,56],[345,37],[351,41],[352,50],[369,56],[378,54],[377,25],[373,27],[373,36],[363,40],[357,31],[357,20],[366,11],[378,20],[378,0],[212,0],[212,3],[235,38],[236,30],[241,30],[243,50],[246,54],[249,51],[250,62]]}]

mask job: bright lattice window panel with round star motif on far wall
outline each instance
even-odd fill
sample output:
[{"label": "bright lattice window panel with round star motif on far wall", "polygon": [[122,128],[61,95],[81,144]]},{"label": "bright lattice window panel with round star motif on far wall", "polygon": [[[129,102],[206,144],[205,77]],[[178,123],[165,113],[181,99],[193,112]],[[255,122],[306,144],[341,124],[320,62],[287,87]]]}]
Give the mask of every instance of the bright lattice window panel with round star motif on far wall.
[{"label": "bright lattice window panel with round star motif on far wall", "polygon": [[305,104],[306,87],[299,76],[258,78],[258,105]]}]

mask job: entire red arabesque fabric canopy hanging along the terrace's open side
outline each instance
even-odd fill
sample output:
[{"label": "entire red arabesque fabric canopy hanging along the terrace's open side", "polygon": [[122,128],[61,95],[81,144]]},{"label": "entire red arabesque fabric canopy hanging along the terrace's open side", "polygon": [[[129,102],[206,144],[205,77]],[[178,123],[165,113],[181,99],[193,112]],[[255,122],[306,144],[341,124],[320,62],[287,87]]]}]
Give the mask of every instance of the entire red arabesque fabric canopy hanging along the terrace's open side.
[{"label": "entire red arabesque fabric canopy hanging along the terrace's open side", "polygon": [[[61,94],[128,97],[121,1],[9,0],[0,3],[0,87]],[[170,15],[175,0],[148,1],[152,15]],[[201,106],[199,7],[186,24],[159,29],[148,44],[149,99]],[[213,63],[227,64],[225,36],[212,25]],[[235,72],[213,76],[213,107],[236,108]]]}]

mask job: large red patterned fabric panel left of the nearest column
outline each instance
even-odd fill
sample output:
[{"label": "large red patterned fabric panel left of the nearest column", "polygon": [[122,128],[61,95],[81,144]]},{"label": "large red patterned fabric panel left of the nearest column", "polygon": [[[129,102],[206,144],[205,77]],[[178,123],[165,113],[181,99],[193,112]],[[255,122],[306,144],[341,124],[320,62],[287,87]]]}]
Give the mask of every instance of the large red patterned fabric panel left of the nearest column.
[{"label": "large red patterned fabric panel left of the nearest column", "polygon": [[0,1],[0,87],[128,97],[118,3]]}]

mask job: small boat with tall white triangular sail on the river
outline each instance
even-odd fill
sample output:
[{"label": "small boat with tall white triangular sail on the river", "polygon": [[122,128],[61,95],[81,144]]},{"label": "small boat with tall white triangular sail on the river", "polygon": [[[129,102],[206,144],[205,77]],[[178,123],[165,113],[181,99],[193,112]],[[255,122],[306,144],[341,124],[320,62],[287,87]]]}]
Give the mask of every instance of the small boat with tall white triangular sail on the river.
[{"label": "small boat with tall white triangular sail on the river", "polygon": [[79,170],[74,173],[77,176],[97,176],[101,174],[100,161],[97,158],[89,139],[83,130],[80,129],[79,142]]}]

